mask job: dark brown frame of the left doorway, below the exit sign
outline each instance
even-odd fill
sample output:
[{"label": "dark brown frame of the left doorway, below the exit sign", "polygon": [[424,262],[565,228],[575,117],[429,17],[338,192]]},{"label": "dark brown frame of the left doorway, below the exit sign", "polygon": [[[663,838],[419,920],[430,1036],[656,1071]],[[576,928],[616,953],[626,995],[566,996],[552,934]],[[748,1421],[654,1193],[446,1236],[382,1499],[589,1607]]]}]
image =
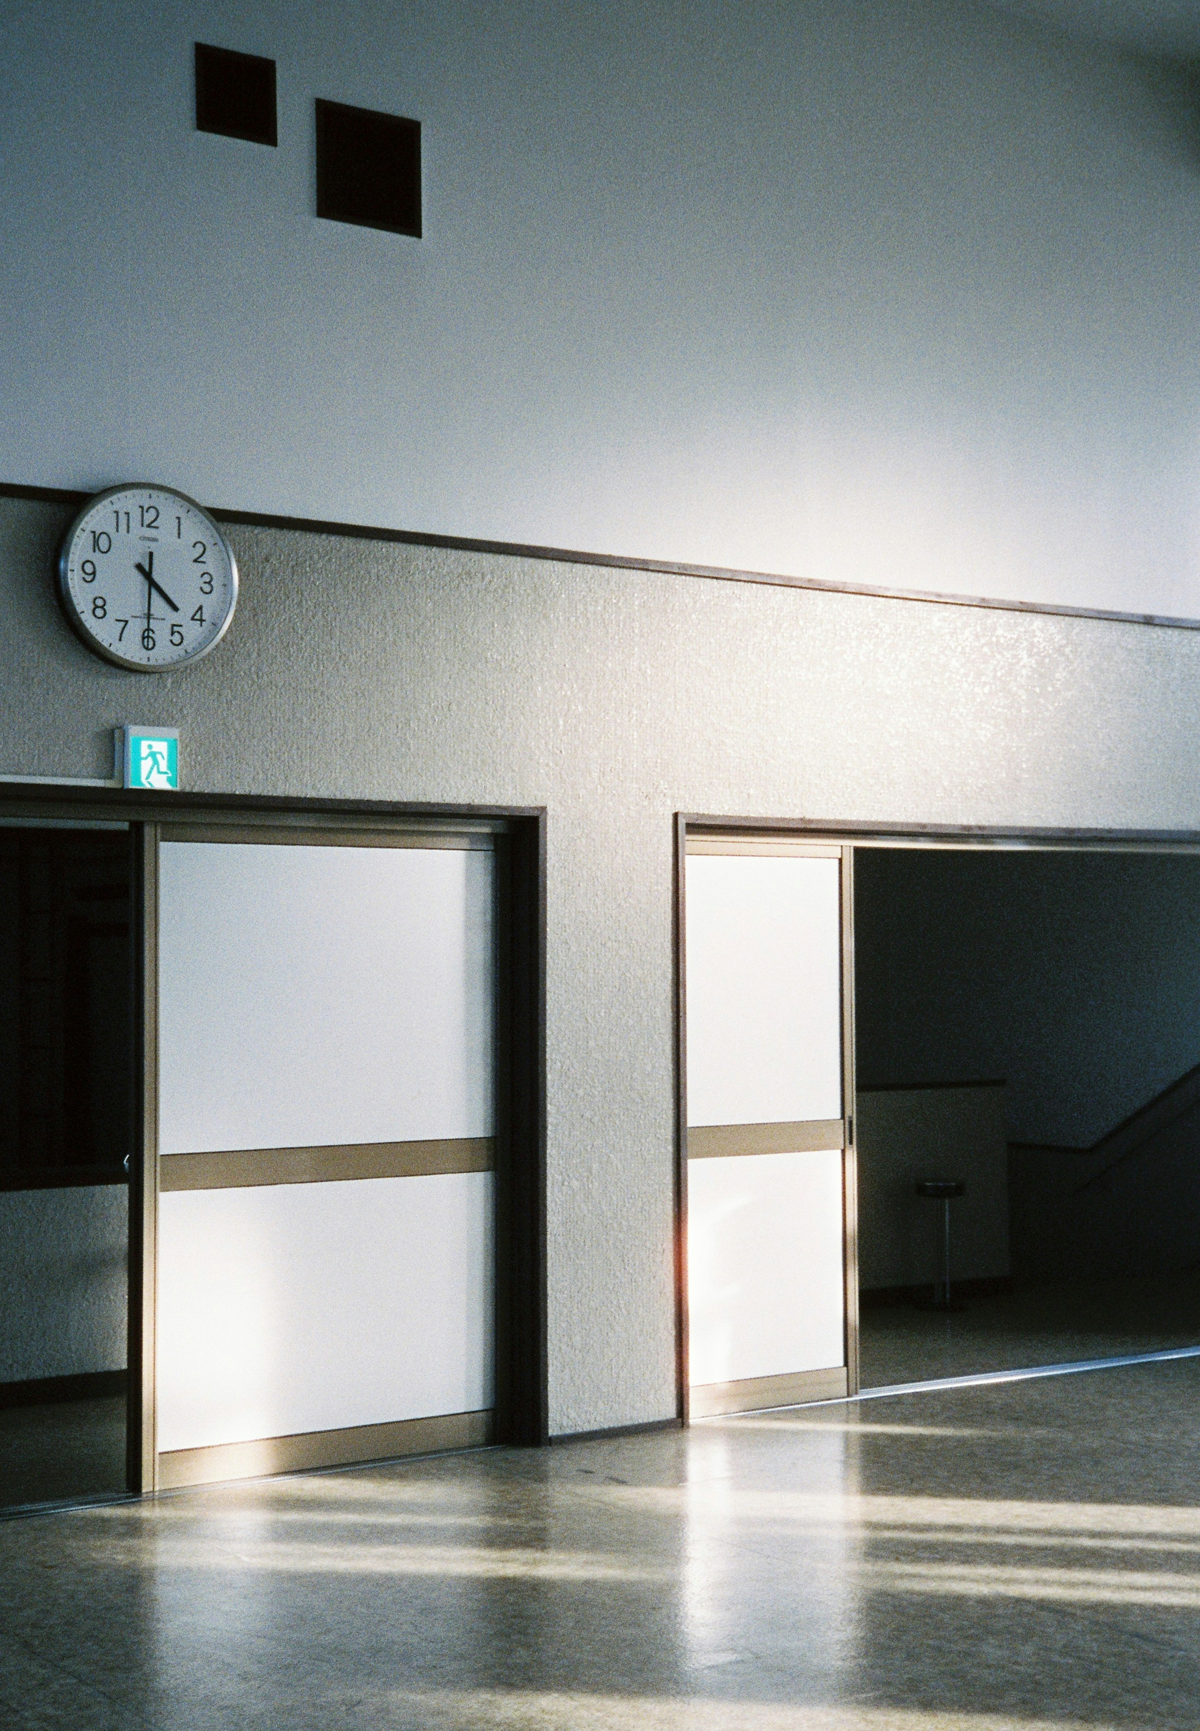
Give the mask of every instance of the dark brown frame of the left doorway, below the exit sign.
[{"label": "dark brown frame of the left doorway, below the exit sign", "polygon": [[[182,824],[246,829],[444,831],[486,827],[496,855],[496,1440],[548,1440],[546,1354],[546,810],[384,800],[150,793],[0,782],[0,817],[130,826],[135,1028],[140,1049],[130,1170],[128,1489],[157,1489],[157,857]],[[137,1044],[137,1042],[135,1042]]]}]

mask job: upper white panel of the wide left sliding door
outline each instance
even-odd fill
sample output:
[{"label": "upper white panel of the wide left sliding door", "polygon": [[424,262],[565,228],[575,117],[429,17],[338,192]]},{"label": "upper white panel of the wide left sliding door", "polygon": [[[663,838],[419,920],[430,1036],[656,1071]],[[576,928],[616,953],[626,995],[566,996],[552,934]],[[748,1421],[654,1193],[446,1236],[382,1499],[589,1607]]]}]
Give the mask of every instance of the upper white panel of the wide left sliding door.
[{"label": "upper white panel of the wide left sliding door", "polygon": [[493,855],[164,843],[159,1146],[493,1134]]}]

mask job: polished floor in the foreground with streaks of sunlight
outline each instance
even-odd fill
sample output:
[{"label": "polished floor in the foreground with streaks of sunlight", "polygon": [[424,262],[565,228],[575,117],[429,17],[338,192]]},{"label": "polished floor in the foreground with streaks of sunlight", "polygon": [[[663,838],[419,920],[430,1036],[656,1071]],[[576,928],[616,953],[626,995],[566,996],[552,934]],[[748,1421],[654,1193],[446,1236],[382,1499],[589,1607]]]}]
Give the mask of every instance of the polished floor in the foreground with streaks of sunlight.
[{"label": "polished floor in the foreground with streaks of sunlight", "polygon": [[0,1522],[0,1726],[1200,1724],[1200,1361]]}]

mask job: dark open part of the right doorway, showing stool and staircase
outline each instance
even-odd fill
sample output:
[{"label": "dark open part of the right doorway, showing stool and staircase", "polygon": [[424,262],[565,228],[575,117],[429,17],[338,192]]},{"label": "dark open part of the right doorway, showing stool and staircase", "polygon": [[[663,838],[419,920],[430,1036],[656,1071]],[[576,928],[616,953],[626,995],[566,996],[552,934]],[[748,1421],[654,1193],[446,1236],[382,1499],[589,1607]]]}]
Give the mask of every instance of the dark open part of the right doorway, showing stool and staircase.
[{"label": "dark open part of the right doorway, showing stool and staircase", "polygon": [[1200,859],[856,848],[854,926],[861,1385],[1198,1343]]}]

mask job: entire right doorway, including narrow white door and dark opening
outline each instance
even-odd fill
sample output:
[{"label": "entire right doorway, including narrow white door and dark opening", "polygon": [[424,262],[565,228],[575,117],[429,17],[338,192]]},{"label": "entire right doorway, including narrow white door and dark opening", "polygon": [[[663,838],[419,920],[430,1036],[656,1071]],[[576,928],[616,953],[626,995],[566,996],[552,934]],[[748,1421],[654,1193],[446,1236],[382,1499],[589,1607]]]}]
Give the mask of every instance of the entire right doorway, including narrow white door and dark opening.
[{"label": "entire right doorway, including narrow white door and dark opening", "polygon": [[676,886],[685,1418],[1200,1350],[1193,838],[680,817]]}]

